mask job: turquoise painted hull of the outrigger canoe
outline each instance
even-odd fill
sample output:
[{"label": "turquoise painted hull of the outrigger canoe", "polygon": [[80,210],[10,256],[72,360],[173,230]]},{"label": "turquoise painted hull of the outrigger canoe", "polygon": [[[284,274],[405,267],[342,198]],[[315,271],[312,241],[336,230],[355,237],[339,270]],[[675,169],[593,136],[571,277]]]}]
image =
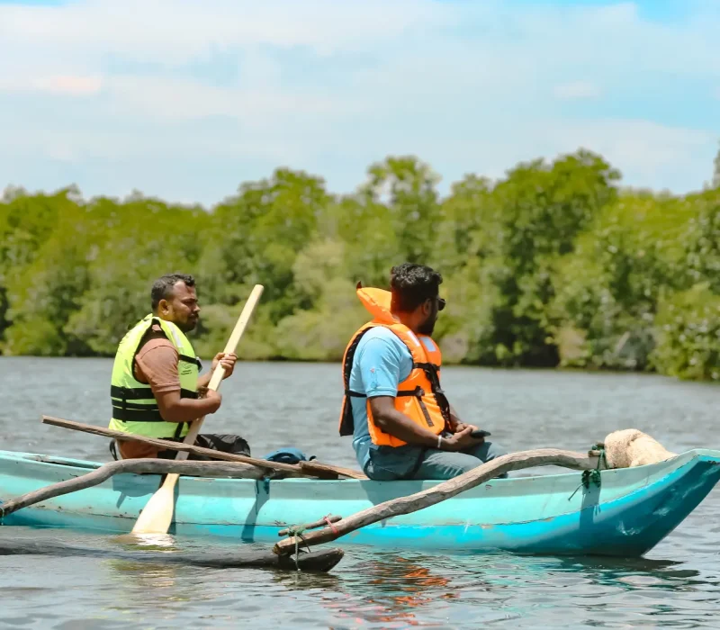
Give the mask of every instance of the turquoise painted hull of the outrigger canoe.
[{"label": "turquoise painted hull of the outrigger canoe", "polygon": [[[72,479],[98,465],[0,451],[0,502]],[[680,525],[720,479],[720,451],[692,450],[660,464],[603,471],[598,488],[581,473],[492,480],[411,514],[363,527],[342,545],[446,553],[642,555]],[[5,526],[130,532],[157,490],[157,475],[121,474],[4,518]],[[275,543],[278,531],[328,514],[350,516],[439,482],[181,477],[175,536],[229,536]]]}]

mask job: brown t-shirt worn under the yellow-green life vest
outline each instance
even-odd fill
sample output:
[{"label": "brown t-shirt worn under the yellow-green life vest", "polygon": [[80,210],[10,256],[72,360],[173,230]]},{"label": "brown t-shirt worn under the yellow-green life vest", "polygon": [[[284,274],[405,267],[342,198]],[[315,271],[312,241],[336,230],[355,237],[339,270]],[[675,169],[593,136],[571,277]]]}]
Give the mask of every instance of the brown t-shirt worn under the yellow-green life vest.
[{"label": "brown t-shirt worn under the yellow-green life vest", "polygon": [[[140,341],[140,349],[132,368],[135,378],[140,383],[148,383],[153,393],[179,392],[178,360],[175,346],[166,338],[160,325],[153,324]],[[140,442],[118,442],[118,447],[122,459],[157,457],[157,446]]]}]

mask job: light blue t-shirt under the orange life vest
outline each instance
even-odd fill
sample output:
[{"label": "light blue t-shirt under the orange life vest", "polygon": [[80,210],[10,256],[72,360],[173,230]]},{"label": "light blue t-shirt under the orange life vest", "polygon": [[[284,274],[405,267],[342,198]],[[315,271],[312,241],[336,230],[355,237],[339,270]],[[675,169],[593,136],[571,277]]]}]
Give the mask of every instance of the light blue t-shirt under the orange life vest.
[{"label": "light blue t-shirt under the orange life vest", "polygon": [[[412,355],[408,347],[392,330],[376,326],[368,330],[357,344],[350,370],[350,390],[365,396],[395,396],[398,385],[412,371]],[[365,470],[370,449],[377,448],[367,428],[367,399],[351,397],[355,431],[353,448],[357,464]]]}]

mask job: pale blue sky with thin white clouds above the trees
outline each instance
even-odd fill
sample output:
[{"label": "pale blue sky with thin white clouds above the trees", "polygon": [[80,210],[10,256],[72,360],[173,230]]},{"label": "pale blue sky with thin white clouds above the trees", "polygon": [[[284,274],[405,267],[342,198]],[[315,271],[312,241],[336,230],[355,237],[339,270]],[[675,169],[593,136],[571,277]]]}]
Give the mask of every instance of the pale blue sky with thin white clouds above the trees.
[{"label": "pale blue sky with thin white clouds above the trees", "polygon": [[588,148],[689,193],[720,139],[720,0],[0,0],[0,189],[206,207],[287,166],[502,177]]}]

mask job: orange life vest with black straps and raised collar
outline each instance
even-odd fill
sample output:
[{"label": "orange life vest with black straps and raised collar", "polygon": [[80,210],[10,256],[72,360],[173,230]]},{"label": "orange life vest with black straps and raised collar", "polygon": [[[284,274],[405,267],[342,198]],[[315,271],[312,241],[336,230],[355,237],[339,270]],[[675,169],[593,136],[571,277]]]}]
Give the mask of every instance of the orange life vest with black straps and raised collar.
[{"label": "orange life vest with black straps and raised collar", "polygon": [[[341,436],[351,436],[355,430],[353,410],[350,398],[365,398],[365,393],[350,390],[350,371],[353,367],[357,345],[365,333],[376,326],[392,330],[398,338],[408,347],[412,355],[412,370],[410,376],[398,385],[395,398],[395,409],[404,413],[420,427],[427,428],[435,435],[439,435],[446,428],[450,420],[450,405],[445,393],[440,387],[440,366],[442,355],[437,344],[426,335],[416,335],[399,320],[396,320],[390,311],[391,293],[383,289],[362,288],[357,285],[357,297],[363,302],[365,308],[373,315],[357,330],[350,340],[343,356],[343,382],[345,383],[345,396],[343,397],[342,411],[340,412],[339,430]],[[385,433],[377,427],[370,410],[370,401],[367,405],[368,430],[373,444],[378,446],[403,446],[398,437]]]}]

